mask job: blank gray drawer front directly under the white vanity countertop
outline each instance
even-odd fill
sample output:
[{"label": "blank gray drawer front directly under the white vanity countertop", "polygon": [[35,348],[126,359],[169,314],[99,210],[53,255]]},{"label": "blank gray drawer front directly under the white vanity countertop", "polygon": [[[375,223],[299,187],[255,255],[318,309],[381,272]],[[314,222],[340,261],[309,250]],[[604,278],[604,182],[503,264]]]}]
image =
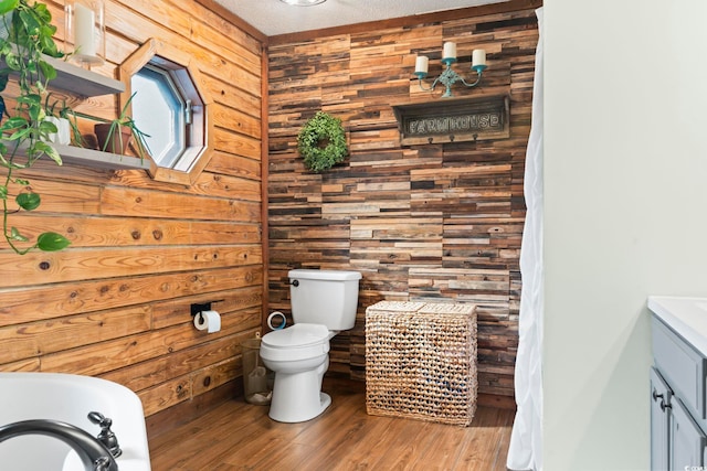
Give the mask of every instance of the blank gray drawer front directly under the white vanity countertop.
[{"label": "blank gray drawer front directly under the white vanity countertop", "polygon": [[659,319],[653,317],[653,360],[676,395],[700,419],[705,409],[705,358]]}]

